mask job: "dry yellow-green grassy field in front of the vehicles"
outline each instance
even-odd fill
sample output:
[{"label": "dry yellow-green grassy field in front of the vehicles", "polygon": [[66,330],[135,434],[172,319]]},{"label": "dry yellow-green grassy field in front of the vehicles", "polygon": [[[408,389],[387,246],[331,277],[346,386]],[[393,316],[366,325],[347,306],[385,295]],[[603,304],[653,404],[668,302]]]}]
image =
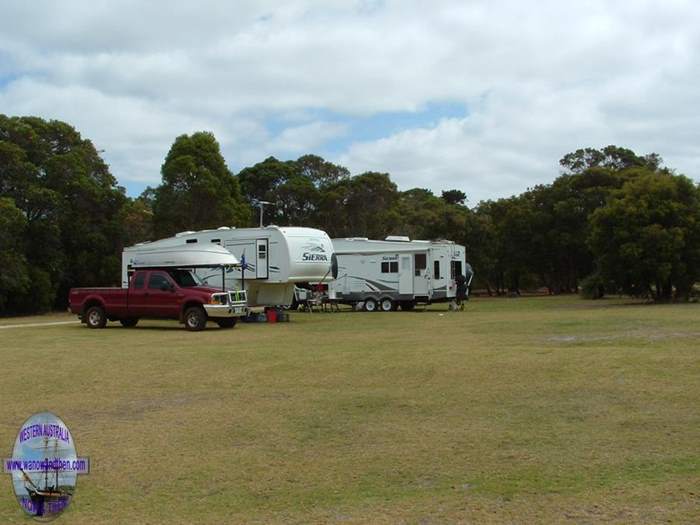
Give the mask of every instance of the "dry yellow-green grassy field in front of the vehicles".
[{"label": "dry yellow-green grassy field in front of the vehicles", "polygon": [[0,455],[63,418],[66,523],[698,523],[700,305],[625,303],[0,329]]}]

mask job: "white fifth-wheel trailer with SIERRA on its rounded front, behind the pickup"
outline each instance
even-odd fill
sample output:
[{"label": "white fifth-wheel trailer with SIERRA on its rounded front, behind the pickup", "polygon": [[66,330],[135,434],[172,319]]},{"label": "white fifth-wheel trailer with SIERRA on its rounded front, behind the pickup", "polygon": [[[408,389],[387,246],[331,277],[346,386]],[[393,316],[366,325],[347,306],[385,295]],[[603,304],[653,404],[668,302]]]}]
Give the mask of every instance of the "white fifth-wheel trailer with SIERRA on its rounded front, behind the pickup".
[{"label": "white fifth-wheel trailer with SIERRA on its rounded front, behind the pickup", "polygon": [[[326,232],[312,228],[265,226],[187,231],[174,237],[140,243],[122,254],[122,286],[129,283],[134,257],[165,247],[219,244],[231,252],[240,266],[230,267],[225,283],[219,271],[198,269],[207,284],[248,292],[249,306],[287,306],[294,299],[294,283],[333,278],[335,255]],[[335,267],[337,270],[337,266]]]}]

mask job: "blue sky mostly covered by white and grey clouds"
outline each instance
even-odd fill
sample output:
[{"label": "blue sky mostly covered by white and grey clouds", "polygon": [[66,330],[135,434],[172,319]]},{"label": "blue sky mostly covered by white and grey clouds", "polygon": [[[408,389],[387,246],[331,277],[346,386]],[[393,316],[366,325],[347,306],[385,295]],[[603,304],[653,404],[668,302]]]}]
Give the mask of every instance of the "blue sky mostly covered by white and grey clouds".
[{"label": "blue sky mostly covered by white and grey clouds", "polygon": [[74,125],[130,195],[175,137],[307,153],[469,202],[608,144],[700,180],[700,3],[9,1],[0,113]]}]

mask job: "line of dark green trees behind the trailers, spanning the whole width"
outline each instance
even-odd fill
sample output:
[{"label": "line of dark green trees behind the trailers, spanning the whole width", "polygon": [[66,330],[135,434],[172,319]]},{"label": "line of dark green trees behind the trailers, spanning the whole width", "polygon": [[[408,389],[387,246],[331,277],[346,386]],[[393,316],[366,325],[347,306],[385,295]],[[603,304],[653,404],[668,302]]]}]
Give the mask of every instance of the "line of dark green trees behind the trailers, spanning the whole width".
[{"label": "line of dark green trees behind the trailers, spanning the whole width", "polygon": [[0,115],[0,314],[64,308],[73,286],[120,282],[124,246],[184,230],[309,226],[331,237],[451,239],[489,294],[581,292],[687,299],[700,274],[700,187],[656,154],[564,155],[561,173],[470,206],[460,190],[399,191],[316,155],[234,174],[207,132],[177,137],[161,184],[130,198],[71,125]]}]

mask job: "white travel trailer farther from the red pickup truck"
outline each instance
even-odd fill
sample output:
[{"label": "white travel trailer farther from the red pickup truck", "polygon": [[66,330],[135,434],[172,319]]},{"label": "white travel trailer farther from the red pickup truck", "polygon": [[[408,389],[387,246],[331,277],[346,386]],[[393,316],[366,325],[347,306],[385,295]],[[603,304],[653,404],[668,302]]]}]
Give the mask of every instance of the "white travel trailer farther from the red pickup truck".
[{"label": "white travel trailer farther from the red pickup truck", "polygon": [[390,236],[333,239],[338,276],[329,296],[345,304],[364,303],[365,310],[411,310],[416,303],[451,301],[458,274],[471,282],[464,246],[452,241],[411,241]]}]

